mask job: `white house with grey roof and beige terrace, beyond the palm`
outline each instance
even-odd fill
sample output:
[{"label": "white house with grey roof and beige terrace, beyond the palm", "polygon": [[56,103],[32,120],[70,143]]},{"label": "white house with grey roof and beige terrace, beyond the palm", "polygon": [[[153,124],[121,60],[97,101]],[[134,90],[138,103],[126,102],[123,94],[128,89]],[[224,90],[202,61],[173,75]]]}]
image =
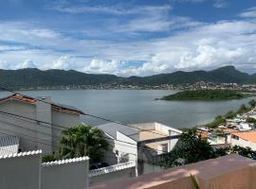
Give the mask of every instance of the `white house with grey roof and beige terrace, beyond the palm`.
[{"label": "white house with grey roof and beige terrace, beyond the palm", "polygon": [[[137,162],[137,157],[141,155],[138,154],[139,149],[142,149],[145,153],[149,152],[149,155],[152,156],[169,152],[177,144],[178,139],[158,139],[180,135],[182,133],[179,129],[174,129],[160,123],[143,123],[129,126],[130,127],[127,127],[116,123],[98,126],[99,129],[104,131],[105,135],[109,138],[109,143],[113,146],[115,155],[109,154],[107,156],[108,159],[106,161],[108,163]],[[147,141],[150,142],[144,143],[144,146],[139,148],[138,145],[140,143]]]}]

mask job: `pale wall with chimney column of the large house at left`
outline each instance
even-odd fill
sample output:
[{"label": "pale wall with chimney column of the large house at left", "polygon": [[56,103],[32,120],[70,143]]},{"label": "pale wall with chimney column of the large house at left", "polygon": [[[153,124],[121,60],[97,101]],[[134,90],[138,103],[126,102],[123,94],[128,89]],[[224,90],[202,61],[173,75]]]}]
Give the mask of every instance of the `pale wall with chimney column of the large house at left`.
[{"label": "pale wall with chimney column of the large house at left", "polygon": [[[45,100],[49,101],[49,99]],[[0,103],[0,111],[11,112],[66,128],[74,127],[80,123],[79,114],[53,110],[49,107],[50,105],[44,102],[38,102],[37,105],[7,100]],[[57,150],[61,135],[60,129],[62,130],[60,127],[51,127],[48,124],[21,120],[21,118],[9,117],[0,113],[0,136],[20,137],[20,149],[22,151],[42,149],[43,154],[48,154],[52,150]]]}]

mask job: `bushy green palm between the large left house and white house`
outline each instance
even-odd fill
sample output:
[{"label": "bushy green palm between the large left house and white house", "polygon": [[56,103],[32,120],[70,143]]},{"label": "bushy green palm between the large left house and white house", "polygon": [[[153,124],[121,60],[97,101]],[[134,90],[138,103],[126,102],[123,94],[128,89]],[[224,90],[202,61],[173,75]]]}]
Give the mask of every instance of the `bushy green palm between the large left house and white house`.
[{"label": "bushy green palm between the large left house and white house", "polygon": [[108,143],[101,129],[78,125],[62,131],[60,142],[60,158],[62,159],[89,156],[90,162],[99,162],[104,150],[107,149]]}]

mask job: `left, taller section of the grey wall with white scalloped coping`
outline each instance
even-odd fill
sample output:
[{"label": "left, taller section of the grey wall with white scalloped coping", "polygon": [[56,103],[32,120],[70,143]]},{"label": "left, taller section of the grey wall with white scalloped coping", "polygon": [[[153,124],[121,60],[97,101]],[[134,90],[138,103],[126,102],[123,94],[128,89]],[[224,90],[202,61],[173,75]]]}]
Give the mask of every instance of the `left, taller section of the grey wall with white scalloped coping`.
[{"label": "left, taller section of the grey wall with white scalloped coping", "polygon": [[41,189],[41,153],[1,157],[0,188]]}]

